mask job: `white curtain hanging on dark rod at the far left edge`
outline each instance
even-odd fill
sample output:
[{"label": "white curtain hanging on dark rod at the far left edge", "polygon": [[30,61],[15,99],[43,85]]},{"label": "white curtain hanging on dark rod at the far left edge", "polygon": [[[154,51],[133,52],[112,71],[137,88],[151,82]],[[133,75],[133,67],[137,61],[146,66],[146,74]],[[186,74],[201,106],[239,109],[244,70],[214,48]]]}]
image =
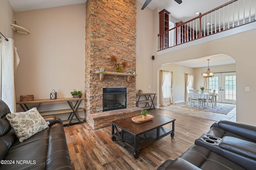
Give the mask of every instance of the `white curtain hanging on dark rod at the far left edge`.
[{"label": "white curtain hanging on dark rod at the far left edge", "polygon": [[14,41],[4,37],[0,39],[0,99],[10,108],[11,113],[16,112],[14,90],[14,76],[20,62]]}]

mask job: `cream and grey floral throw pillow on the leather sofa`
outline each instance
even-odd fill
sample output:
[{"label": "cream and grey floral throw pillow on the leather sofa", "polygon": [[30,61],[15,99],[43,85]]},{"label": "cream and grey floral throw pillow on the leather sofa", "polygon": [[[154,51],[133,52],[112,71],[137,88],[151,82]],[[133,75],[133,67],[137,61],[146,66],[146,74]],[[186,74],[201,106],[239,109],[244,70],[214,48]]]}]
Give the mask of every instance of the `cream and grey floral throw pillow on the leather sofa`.
[{"label": "cream and grey floral throw pillow on the leather sofa", "polygon": [[48,127],[48,124],[36,107],[26,112],[9,113],[6,115],[6,119],[9,121],[12,129],[14,129],[20,142]]}]

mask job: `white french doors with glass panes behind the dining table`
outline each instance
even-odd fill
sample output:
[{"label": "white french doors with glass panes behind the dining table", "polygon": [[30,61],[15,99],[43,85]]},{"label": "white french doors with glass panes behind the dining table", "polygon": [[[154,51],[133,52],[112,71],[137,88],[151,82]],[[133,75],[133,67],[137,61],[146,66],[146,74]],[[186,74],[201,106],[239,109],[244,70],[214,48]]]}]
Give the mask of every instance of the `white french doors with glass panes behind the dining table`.
[{"label": "white french doors with glass panes behind the dining table", "polygon": [[227,72],[215,74],[209,78],[209,88],[216,90],[218,94],[217,102],[236,103],[236,73]]}]

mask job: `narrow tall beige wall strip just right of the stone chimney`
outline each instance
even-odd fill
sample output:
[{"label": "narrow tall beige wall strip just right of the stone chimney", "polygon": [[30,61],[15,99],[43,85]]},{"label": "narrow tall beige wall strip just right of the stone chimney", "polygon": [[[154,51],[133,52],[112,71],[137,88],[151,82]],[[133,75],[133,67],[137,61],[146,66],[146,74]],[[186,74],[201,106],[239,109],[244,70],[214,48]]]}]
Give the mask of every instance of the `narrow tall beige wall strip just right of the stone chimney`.
[{"label": "narrow tall beige wall strip just right of the stone chimney", "polygon": [[[152,55],[154,52],[153,40],[153,11],[149,8],[140,10],[142,4],[137,1],[137,39],[136,39],[136,92],[143,90],[143,93],[152,92]],[[150,88],[149,88],[150,86]]]}]

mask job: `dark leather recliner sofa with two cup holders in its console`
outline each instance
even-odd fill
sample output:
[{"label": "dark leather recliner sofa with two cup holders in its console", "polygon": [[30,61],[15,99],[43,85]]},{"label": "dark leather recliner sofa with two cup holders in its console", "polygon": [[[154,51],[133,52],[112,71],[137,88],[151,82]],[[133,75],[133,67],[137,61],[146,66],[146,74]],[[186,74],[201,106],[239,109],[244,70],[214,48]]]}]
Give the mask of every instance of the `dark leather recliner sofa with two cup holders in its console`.
[{"label": "dark leather recliner sofa with two cup holders in its console", "polygon": [[166,160],[158,170],[254,170],[256,127],[232,121],[212,124],[179,158]]}]

